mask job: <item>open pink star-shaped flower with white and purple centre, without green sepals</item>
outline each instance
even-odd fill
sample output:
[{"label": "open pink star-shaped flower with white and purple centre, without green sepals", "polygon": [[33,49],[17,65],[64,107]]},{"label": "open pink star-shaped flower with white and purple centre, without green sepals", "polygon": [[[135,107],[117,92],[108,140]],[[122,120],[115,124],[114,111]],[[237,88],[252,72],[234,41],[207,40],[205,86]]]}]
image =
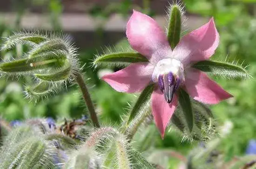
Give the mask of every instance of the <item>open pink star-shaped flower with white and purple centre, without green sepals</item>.
[{"label": "open pink star-shaped flower with white and purple centre, without green sepals", "polygon": [[134,11],[127,24],[126,35],[131,47],[148,59],[148,63],[132,63],[125,69],[103,76],[119,92],[141,92],[156,83],[152,93],[155,123],[164,131],[177,106],[178,88],[206,104],[216,104],[232,97],[194,63],[209,59],[219,44],[219,34],[213,19],[185,35],[174,50],[163,29],[149,16]]}]

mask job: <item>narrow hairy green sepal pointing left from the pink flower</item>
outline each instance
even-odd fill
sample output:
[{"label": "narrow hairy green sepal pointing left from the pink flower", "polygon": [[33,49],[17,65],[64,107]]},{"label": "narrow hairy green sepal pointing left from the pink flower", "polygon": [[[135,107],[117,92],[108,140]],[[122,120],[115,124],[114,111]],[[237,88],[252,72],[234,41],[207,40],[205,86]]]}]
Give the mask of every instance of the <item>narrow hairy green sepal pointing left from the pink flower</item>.
[{"label": "narrow hairy green sepal pointing left from the pink flower", "polygon": [[120,52],[97,56],[94,65],[116,65],[122,63],[148,62],[148,59],[140,53]]}]

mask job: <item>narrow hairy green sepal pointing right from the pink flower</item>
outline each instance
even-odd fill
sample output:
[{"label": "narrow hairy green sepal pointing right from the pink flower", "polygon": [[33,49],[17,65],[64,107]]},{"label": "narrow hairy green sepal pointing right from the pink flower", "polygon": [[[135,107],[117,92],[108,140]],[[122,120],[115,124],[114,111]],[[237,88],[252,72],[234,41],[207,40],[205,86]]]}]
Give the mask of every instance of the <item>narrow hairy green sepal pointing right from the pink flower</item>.
[{"label": "narrow hairy green sepal pointing right from the pink flower", "polygon": [[195,63],[194,68],[227,78],[247,79],[249,72],[241,65],[205,60]]}]

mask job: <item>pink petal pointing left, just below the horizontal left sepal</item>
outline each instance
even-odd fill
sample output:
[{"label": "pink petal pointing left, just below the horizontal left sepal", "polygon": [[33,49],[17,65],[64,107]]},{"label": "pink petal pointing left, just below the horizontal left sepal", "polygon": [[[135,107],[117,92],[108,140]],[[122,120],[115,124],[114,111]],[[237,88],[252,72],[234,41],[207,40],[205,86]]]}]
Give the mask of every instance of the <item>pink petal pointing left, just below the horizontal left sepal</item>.
[{"label": "pink petal pointing left, just below the horizontal left sepal", "polygon": [[151,63],[132,63],[102,79],[118,92],[135,93],[143,90],[152,80],[154,66]]}]

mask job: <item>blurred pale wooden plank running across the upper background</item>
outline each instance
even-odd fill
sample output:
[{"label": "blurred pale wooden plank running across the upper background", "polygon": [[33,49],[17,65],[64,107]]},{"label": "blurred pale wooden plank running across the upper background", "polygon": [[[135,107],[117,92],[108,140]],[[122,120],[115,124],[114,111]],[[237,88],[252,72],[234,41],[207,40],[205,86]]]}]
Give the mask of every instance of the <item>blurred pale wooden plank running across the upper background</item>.
[{"label": "blurred pale wooden plank running across the upper background", "polygon": [[[15,13],[0,13],[0,21],[6,25],[14,26],[15,18]],[[164,16],[158,15],[155,19],[162,27],[167,26],[167,21]],[[103,30],[125,31],[127,20],[128,19],[121,17],[121,15],[114,14],[105,22]],[[103,20],[94,18],[88,14],[75,13],[64,13],[60,18],[61,27],[64,31],[95,31],[102,21]],[[196,29],[207,21],[207,18],[188,16],[184,30]],[[22,17],[20,24],[23,29],[52,29],[49,16],[39,13],[27,13]]]}]

